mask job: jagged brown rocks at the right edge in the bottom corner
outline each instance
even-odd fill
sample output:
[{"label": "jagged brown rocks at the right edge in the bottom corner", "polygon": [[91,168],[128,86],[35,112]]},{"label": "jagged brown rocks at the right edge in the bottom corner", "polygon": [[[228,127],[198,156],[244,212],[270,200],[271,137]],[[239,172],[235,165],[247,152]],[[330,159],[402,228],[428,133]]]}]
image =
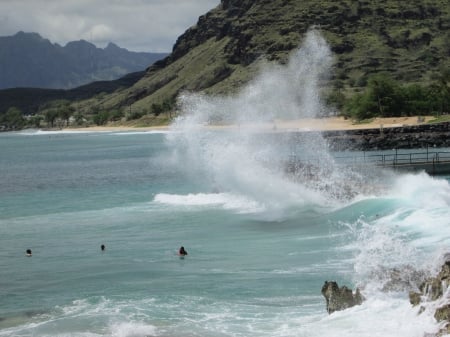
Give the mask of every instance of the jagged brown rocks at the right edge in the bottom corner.
[{"label": "jagged brown rocks at the right edge in the bottom corner", "polygon": [[[446,256],[446,262],[442,266],[441,271],[435,276],[426,279],[420,286],[420,292],[410,292],[409,301],[413,306],[425,304],[426,302],[436,301],[439,303],[434,313],[434,318],[438,322],[447,321],[444,327],[435,335],[442,336],[450,333],[450,300],[446,293],[450,285],[450,256]],[[440,303],[442,302],[442,303]],[[421,314],[425,310],[422,305],[419,310]]]}]

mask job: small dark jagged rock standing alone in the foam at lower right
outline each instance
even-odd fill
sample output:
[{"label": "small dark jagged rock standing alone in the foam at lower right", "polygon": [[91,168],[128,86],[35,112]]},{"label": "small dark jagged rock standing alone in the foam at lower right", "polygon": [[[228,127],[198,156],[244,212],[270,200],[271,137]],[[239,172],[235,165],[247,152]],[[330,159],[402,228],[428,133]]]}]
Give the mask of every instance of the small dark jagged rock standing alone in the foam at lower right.
[{"label": "small dark jagged rock standing alone in the foam at lower right", "polygon": [[358,288],[353,293],[346,286],[339,287],[335,281],[325,281],[322,287],[322,295],[327,301],[327,311],[329,314],[360,305],[364,300]]}]

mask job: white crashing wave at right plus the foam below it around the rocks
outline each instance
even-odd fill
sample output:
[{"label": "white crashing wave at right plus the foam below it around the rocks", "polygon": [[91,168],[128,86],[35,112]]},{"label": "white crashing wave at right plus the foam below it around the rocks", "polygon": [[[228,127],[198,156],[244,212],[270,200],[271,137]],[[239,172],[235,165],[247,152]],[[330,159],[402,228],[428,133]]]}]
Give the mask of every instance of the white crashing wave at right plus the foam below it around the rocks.
[{"label": "white crashing wave at right plus the foam below it around the rocks", "polygon": [[439,329],[433,316],[438,304],[420,310],[409,303],[408,292],[435,275],[448,253],[449,182],[423,172],[389,178],[380,195],[361,196],[340,210],[357,218],[341,217],[336,245],[352,252],[342,261],[352,272],[335,277],[350,276],[366,301],[323,320],[317,335],[330,328],[336,335],[419,337]]}]

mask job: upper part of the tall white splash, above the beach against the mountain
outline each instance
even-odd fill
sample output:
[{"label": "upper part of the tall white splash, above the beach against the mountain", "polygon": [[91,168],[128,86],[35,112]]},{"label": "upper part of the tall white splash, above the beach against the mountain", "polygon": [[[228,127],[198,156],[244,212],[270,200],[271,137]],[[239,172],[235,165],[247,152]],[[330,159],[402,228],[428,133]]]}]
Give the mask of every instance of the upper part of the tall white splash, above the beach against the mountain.
[{"label": "upper part of the tall white splash, above the beach against the mountain", "polygon": [[267,65],[232,97],[180,97],[183,117],[175,125],[271,122],[274,119],[317,117],[326,114],[320,100],[320,81],[327,79],[332,54],[319,32],[311,30],[286,66]]}]

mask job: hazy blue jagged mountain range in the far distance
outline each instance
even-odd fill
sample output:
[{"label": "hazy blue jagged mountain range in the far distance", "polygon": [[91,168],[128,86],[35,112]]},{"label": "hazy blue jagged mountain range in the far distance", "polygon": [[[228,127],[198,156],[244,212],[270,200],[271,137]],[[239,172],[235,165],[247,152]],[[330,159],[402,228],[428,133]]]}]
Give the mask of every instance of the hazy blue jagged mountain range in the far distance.
[{"label": "hazy blue jagged mountain range in the far distance", "polygon": [[143,71],[166,53],[131,52],[109,43],[104,49],[85,40],[64,47],[37,33],[0,37],[0,89],[70,89]]}]

